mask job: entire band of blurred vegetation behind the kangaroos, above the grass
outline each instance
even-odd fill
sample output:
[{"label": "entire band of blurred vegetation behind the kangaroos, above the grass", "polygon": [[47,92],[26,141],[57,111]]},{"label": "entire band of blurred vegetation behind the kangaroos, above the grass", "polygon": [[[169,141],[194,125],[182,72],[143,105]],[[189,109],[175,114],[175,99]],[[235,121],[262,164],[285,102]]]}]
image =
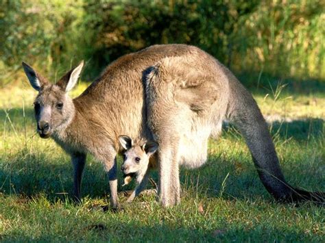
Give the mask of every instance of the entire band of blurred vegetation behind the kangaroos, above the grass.
[{"label": "entire band of blurred vegetation behind the kangaroos, above the grass", "polygon": [[0,86],[19,80],[22,60],[52,79],[86,60],[91,81],[125,53],[168,43],[204,49],[246,86],[322,81],[324,23],[314,0],[1,0]]}]

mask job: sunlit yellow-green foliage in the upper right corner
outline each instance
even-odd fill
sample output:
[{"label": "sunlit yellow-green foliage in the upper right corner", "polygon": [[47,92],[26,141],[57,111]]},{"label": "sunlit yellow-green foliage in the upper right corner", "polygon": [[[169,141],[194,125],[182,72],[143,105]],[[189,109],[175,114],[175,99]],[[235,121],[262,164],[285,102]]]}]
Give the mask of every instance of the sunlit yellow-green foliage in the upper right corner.
[{"label": "sunlit yellow-green foliage in the upper right corner", "polygon": [[284,77],[325,77],[322,1],[261,1],[240,20],[243,64]]}]

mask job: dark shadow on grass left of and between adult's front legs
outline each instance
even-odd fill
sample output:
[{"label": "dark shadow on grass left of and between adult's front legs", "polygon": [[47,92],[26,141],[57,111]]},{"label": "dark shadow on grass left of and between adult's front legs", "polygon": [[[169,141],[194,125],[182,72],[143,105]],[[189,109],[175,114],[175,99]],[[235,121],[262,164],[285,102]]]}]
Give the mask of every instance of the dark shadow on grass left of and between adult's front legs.
[{"label": "dark shadow on grass left of and between adult's front legs", "polygon": [[[0,192],[37,196],[45,194],[50,201],[66,200],[72,195],[73,167],[69,157],[59,161],[49,158],[49,153],[14,155],[14,159],[0,164]],[[99,163],[88,163],[82,182],[84,195],[101,197],[108,193],[108,180]]]}]

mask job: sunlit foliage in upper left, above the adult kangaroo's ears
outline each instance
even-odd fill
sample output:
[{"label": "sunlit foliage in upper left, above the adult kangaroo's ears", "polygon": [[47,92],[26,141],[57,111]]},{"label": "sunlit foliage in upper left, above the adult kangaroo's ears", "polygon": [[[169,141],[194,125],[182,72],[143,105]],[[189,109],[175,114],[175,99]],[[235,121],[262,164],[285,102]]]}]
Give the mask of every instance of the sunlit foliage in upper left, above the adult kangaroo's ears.
[{"label": "sunlit foliage in upper left, above the adult kangaroo's ears", "polygon": [[[0,78],[21,68],[21,61],[48,72],[71,60],[75,24],[82,18],[82,1],[3,0],[0,2]],[[68,62],[69,63],[69,62]],[[67,66],[67,64],[65,64]]]}]

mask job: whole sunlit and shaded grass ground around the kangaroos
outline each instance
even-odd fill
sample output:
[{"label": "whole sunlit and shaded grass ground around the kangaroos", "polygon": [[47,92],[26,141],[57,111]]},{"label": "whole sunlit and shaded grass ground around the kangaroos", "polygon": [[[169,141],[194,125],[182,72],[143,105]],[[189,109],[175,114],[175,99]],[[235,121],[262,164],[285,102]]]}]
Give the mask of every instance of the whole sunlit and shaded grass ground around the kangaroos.
[{"label": "whole sunlit and shaded grass ground around the kangaroos", "polygon": [[[73,96],[85,87],[80,84]],[[284,90],[277,95],[279,91],[259,90],[254,97],[273,120],[282,169],[293,185],[324,191],[324,93]],[[324,207],[276,203],[232,128],[210,140],[208,162],[202,168],[182,169],[182,203],[176,207],[163,209],[154,196],[126,205],[120,196],[123,211],[103,212],[99,206],[109,202],[108,181],[101,164],[90,156],[84,198],[75,205],[69,198],[69,157],[52,140],[36,136],[36,92],[29,86],[0,92],[1,241],[325,241]],[[153,177],[157,179],[156,172]],[[119,190],[132,188],[134,184],[122,188],[119,181]]]}]

